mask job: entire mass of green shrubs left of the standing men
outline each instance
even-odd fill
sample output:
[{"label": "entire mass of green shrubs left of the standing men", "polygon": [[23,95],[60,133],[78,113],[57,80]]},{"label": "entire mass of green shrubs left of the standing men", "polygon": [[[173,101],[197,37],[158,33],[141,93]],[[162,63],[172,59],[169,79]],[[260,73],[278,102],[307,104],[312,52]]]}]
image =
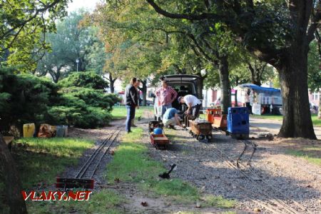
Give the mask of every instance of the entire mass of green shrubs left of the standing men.
[{"label": "entire mass of green shrubs left of the standing men", "polygon": [[[83,77],[83,78],[81,78]],[[78,81],[79,86],[70,87]],[[76,73],[57,85],[30,74],[12,74],[0,69],[0,127],[22,128],[24,123],[66,124],[81,128],[106,126],[118,96],[104,93],[106,82],[96,73]],[[104,85],[105,84],[105,85]],[[87,88],[86,88],[87,87]]]}]

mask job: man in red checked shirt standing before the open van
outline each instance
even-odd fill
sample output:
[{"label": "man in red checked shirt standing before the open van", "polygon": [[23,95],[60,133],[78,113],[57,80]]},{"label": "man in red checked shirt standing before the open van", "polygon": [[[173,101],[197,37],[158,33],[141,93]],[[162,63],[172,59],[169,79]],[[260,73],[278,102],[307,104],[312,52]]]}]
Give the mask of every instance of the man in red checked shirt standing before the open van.
[{"label": "man in red checked shirt standing before the open van", "polygon": [[168,108],[172,108],[172,103],[177,96],[177,92],[174,88],[167,85],[166,81],[162,81],[161,88],[158,88],[155,91],[156,96],[158,97],[158,102],[161,104],[161,118]]}]

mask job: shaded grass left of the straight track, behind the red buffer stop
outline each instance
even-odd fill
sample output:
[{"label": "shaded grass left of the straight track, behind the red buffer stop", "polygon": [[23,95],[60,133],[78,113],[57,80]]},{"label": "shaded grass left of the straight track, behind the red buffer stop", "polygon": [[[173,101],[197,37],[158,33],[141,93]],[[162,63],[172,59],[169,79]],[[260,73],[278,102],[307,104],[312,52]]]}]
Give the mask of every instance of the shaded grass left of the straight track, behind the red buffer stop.
[{"label": "shaded grass left of the straight track, behind the red buffer stop", "polygon": [[22,138],[14,152],[23,188],[46,187],[67,166],[76,165],[93,141],[76,138]]}]

